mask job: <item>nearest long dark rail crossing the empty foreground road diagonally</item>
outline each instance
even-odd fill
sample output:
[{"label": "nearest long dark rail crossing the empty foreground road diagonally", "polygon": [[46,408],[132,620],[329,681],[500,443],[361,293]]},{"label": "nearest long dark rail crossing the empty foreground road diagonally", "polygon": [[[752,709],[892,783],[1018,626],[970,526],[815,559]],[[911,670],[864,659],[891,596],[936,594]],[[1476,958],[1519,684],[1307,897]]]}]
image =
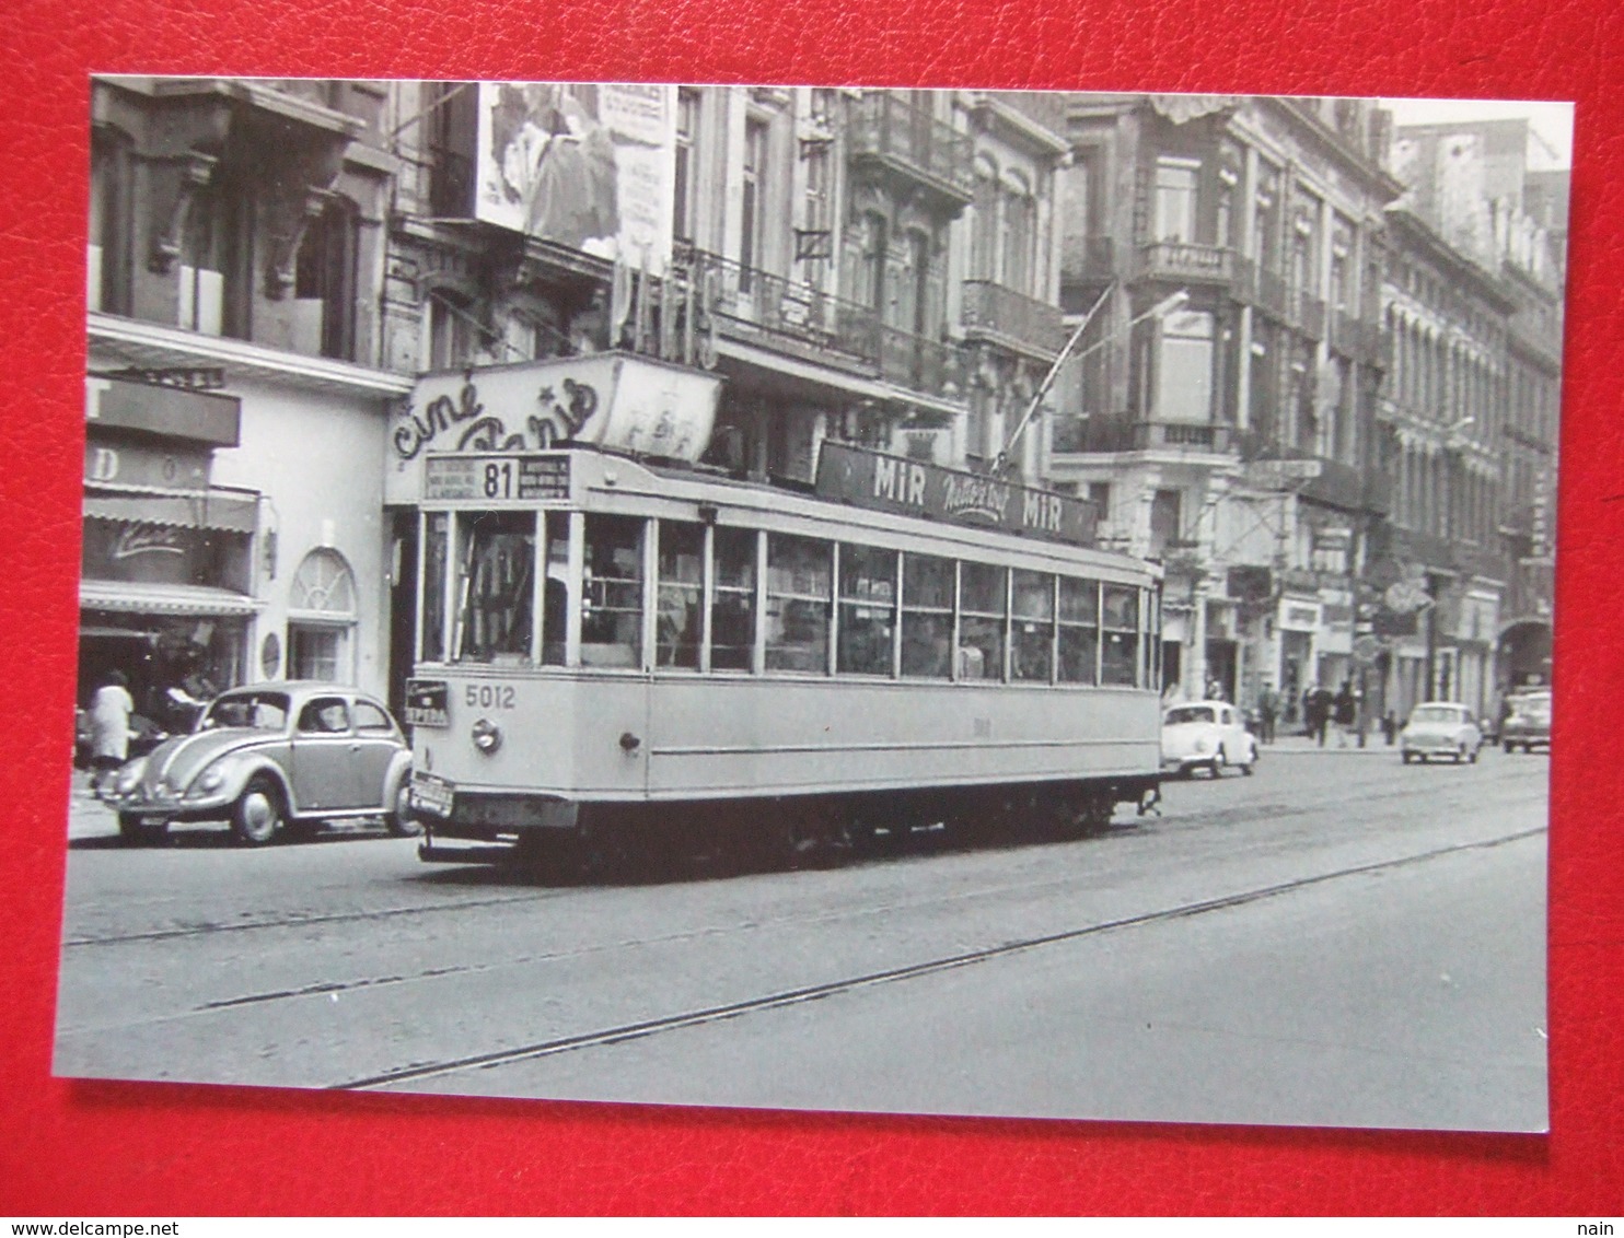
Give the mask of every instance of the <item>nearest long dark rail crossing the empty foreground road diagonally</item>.
[{"label": "nearest long dark rail crossing the empty foreground road diagonally", "polygon": [[1057,930],[1051,933],[1025,936],[1013,941],[1004,941],[999,944],[984,946],[971,951],[960,951],[955,954],[947,954],[935,959],[926,959],[921,962],[864,972],[859,975],[843,977],[838,980],[827,980],[815,985],[784,988],[754,998],[744,998],[739,1001],[703,1006],[697,1009],[680,1011],[676,1014],[615,1024],[609,1027],[594,1029],[590,1032],[578,1032],[565,1037],[539,1040],[528,1045],[516,1045],[487,1053],[440,1058],[435,1061],[412,1063],[391,1071],[382,1071],[370,1076],[352,1077],[343,1082],[328,1084],[326,1089],[328,1090],[388,1089],[401,1084],[416,1084],[429,1079],[443,1079],[468,1071],[494,1069],[499,1066],[510,1066],[523,1061],[536,1061],[541,1058],[557,1056],[562,1053],[573,1053],[586,1048],[599,1048],[606,1045],[641,1040],[646,1037],[663,1035],[666,1032],[703,1027],[706,1024],[716,1024],[749,1014],[799,1006],[812,1001],[820,1001],[823,998],[854,993],[866,988],[879,988],[883,985],[905,983],[929,975],[939,975],[963,967],[973,967],[983,962],[992,962],[997,959],[1041,949],[1046,946],[1062,944],[1069,941],[1080,941],[1085,938],[1101,936],[1121,930],[1143,928],[1148,925],[1168,923],[1174,920],[1187,920],[1192,917],[1229,910],[1252,902],[1260,902],[1265,899],[1283,897],[1314,886],[1324,886],[1333,881],[1345,881],[1350,878],[1369,876],[1374,873],[1395,871],[1415,865],[1424,865],[1445,857],[1460,855],[1465,852],[1504,847],[1512,842],[1520,842],[1528,837],[1541,836],[1546,832],[1546,829],[1548,829],[1546,826],[1536,826],[1528,829],[1518,829],[1491,839],[1475,839],[1471,842],[1458,842],[1444,847],[1434,847],[1424,852],[1418,852],[1415,855],[1403,855],[1385,860],[1374,860],[1367,863],[1348,865],[1325,873],[1312,873],[1293,878],[1289,881],[1255,886],[1252,889],[1244,889],[1244,891],[1233,891],[1212,899],[1197,899],[1173,907],[1160,907],[1155,910],[1138,912],[1134,915],[1114,917],[1088,925],[1077,925],[1072,928]]}]

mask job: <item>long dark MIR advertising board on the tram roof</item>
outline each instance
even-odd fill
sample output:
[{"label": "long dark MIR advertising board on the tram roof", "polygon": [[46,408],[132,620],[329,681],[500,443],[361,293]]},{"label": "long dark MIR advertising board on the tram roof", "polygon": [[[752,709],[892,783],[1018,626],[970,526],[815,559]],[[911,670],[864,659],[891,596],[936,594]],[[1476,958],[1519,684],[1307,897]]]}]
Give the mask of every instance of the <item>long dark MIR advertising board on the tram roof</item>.
[{"label": "long dark MIR advertising board on the tram roof", "polygon": [[828,440],[818,454],[817,492],[875,511],[1095,545],[1091,503]]}]

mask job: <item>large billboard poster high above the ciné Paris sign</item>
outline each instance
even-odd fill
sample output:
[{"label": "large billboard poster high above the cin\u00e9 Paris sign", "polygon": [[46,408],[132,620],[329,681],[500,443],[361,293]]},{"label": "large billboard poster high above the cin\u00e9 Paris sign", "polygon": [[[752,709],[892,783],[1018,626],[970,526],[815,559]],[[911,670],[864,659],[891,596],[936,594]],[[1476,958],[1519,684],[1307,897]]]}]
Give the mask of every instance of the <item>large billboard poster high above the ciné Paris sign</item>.
[{"label": "large billboard poster high above the cin\u00e9 Paris sign", "polygon": [[479,84],[479,219],[661,274],[671,261],[677,88]]}]

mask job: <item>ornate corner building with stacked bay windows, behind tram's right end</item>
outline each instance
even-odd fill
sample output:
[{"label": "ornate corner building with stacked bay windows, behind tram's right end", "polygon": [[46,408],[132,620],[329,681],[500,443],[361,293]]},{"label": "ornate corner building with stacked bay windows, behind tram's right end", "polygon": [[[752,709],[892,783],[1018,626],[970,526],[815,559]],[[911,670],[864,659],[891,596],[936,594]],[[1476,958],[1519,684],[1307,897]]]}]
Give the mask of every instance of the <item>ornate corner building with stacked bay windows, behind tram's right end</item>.
[{"label": "ornate corner building with stacked bay windows, behind tram's right end", "polygon": [[1369,101],[1073,96],[1051,472],[1166,563],[1164,683],[1250,704],[1356,675],[1387,203]]}]

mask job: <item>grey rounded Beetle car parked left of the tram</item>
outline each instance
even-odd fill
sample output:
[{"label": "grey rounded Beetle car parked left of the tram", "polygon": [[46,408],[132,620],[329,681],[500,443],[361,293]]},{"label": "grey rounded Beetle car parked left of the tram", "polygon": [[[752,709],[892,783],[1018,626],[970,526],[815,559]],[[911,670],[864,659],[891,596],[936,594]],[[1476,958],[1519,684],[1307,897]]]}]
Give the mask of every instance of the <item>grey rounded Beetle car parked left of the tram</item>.
[{"label": "grey rounded Beetle car parked left of the tram", "polygon": [[391,834],[417,834],[408,789],[411,748],[375,698],[309,680],[222,693],[190,735],[119,769],[107,802],[132,842],[172,821],[229,821],[248,845],[287,826],[382,816]]}]

